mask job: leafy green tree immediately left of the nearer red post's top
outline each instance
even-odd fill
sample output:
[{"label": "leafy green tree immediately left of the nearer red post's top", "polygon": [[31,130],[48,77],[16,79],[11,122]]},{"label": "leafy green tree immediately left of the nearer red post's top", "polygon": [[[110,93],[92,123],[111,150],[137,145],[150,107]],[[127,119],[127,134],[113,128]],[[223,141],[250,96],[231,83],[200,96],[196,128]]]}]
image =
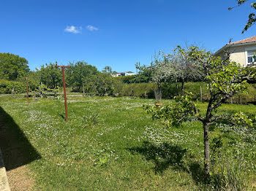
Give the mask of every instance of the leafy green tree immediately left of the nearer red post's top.
[{"label": "leafy green tree immediately left of the nearer red post's top", "polygon": [[45,66],[42,65],[39,73],[40,73],[40,81],[50,88],[56,88],[58,86],[62,86],[62,75],[61,69],[56,68],[56,63],[46,63]]}]

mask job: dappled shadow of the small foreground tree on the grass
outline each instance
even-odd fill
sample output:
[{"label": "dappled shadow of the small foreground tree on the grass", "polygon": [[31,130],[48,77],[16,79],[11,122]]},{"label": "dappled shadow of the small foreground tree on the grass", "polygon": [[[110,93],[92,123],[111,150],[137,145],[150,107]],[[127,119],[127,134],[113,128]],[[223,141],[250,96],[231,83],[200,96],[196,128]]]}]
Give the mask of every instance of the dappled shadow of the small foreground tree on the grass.
[{"label": "dappled shadow of the small foreground tree on the grass", "polygon": [[[195,184],[207,184],[203,174],[203,167],[195,161],[192,162],[194,157],[189,155],[187,149],[167,143],[155,145],[144,141],[141,147],[132,147],[128,150],[133,154],[139,153],[143,155],[147,161],[153,162],[156,174],[161,174],[171,166],[173,169],[191,174]],[[186,165],[182,160],[185,154],[191,157],[187,159]]]}]

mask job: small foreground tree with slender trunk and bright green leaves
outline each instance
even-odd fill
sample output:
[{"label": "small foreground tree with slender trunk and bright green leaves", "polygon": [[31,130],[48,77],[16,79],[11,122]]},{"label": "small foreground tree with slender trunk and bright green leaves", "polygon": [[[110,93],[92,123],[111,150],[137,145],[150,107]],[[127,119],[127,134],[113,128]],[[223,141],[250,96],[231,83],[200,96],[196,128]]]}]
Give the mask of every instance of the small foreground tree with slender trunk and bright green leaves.
[{"label": "small foreground tree with slender trunk and bright green leaves", "polygon": [[168,104],[162,108],[146,106],[146,111],[152,113],[154,119],[162,119],[165,125],[179,124],[195,116],[203,123],[204,132],[204,163],[206,177],[210,174],[209,126],[214,122],[227,119],[230,116],[218,115],[216,109],[227,99],[239,92],[246,91],[246,79],[251,77],[239,64],[230,62],[228,58],[216,58],[210,52],[190,47],[189,60],[199,64],[205,74],[208,84],[210,100],[206,114],[200,114],[197,104],[192,101],[191,93],[175,98],[175,104]]}]

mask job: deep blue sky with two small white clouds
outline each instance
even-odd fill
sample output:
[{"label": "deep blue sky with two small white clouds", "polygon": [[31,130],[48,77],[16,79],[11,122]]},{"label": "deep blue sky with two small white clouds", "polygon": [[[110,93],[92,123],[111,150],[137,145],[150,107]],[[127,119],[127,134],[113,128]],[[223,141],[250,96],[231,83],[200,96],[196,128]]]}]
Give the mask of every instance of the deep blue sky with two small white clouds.
[{"label": "deep blue sky with two small white clouds", "polygon": [[102,70],[135,71],[159,50],[197,44],[216,51],[241,31],[252,9],[236,0],[1,0],[0,52],[30,69],[58,61],[87,61]]}]

